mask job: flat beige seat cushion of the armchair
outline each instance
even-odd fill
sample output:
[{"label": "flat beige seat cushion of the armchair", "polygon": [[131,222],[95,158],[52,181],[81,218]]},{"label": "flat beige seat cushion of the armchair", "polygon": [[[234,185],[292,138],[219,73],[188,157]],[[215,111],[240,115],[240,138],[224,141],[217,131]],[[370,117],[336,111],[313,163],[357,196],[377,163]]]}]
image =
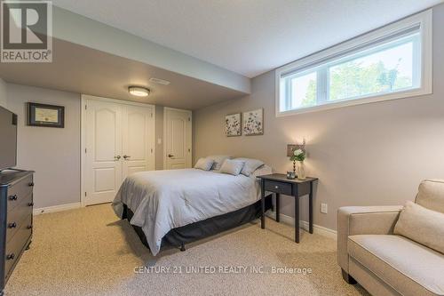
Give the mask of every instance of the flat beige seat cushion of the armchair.
[{"label": "flat beige seat cushion of the armchair", "polygon": [[348,252],[402,295],[444,295],[444,255],[403,236],[350,236]]}]

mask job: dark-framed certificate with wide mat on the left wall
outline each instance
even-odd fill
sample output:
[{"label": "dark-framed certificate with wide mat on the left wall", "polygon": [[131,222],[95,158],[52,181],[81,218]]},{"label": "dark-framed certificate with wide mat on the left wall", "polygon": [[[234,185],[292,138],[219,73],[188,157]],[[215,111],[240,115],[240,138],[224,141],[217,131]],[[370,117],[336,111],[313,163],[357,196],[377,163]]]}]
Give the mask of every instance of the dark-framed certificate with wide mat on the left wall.
[{"label": "dark-framed certificate with wide mat on the left wall", "polygon": [[65,127],[65,107],[28,103],[28,125]]}]

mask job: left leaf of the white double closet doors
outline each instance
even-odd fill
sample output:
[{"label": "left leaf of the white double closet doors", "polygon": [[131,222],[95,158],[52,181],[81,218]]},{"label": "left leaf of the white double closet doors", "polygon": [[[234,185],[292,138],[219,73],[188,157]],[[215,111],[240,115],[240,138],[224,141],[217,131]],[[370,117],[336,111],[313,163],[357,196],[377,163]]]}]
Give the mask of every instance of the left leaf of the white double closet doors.
[{"label": "left leaf of the white double closet doors", "polygon": [[122,183],[122,106],[100,100],[86,106],[84,204],[102,204]]}]

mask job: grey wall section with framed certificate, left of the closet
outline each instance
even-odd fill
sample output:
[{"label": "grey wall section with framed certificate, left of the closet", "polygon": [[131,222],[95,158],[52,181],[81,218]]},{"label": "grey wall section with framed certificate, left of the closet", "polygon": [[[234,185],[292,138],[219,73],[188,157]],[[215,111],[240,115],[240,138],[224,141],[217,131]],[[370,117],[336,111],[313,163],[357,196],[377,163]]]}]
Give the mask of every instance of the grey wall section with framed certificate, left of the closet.
[{"label": "grey wall section with framed certificate, left of the closet", "polygon": [[[19,116],[18,164],[36,171],[35,208],[80,202],[80,95],[7,84],[8,108]],[[65,106],[65,128],[26,125],[26,103]]]}]

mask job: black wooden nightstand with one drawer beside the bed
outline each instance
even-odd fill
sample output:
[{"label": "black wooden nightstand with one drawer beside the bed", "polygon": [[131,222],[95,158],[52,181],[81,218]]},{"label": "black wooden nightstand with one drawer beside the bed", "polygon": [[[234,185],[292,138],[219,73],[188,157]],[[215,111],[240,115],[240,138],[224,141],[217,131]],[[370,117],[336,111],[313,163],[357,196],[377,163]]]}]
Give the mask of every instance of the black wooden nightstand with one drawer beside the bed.
[{"label": "black wooden nightstand with one drawer beside the bed", "polygon": [[307,177],[305,180],[289,180],[287,175],[274,173],[271,175],[258,176],[261,180],[262,191],[262,217],[260,227],[266,228],[266,191],[276,194],[276,221],[279,222],[279,206],[281,194],[295,197],[295,242],[299,243],[299,197],[308,195],[308,220],[309,232],[313,234],[313,182],[317,178]]}]

